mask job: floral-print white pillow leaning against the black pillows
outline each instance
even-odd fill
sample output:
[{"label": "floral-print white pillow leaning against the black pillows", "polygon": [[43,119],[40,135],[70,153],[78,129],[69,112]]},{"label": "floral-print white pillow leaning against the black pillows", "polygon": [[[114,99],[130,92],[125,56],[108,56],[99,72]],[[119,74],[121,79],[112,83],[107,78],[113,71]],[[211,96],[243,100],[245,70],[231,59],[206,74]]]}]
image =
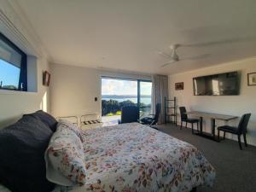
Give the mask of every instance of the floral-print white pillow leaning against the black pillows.
[{"label": "floral-print white pillow leaning against the black pillows", "polygon": [[45,151],[46,177],[50,182],[64,186],[85,183],[84,148],[73,129],[59,122]]}]

